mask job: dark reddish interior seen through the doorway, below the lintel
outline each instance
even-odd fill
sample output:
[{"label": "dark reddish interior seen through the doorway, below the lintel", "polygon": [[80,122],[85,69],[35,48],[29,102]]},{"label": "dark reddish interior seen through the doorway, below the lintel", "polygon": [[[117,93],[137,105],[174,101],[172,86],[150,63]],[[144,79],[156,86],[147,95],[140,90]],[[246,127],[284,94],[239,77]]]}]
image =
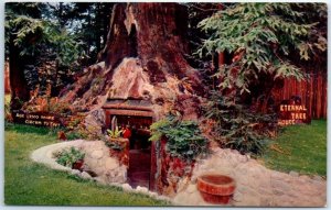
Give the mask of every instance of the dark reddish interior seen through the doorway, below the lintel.
[{"label": "dark reddish interior seen through the doorway, below the lintel", "polygon": [[116,115],[116,118],[120,128],[128,126],[131,131],[128,183],[132,187],[150,188],[151,143],[148,139],[152,118],[138,115]]}]

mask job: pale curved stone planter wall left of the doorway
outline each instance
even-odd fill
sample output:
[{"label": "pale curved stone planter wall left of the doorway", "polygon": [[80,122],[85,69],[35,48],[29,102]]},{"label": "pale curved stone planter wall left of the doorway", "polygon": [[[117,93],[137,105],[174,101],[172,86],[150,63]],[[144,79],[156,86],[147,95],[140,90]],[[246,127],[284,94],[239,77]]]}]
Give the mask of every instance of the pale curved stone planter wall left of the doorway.
[{"label": "pale curved stone planter wall left of the doorway", "polygon": [[[56,163],[55,154],[63,150],[71,148],[72,146],[85,152],[86,156],[84,167],[85,169],[92,169],[97,173],[96,177],[92,177],[84,170],[79,172]],[[33,151],[31,158],[36,163],[44,164],[56,170],[68,172],[83,179],[98,181],[103,185],[120,187],[127,192],[143,194],[158,200],[164,200],[169,203],[172,202],[168,197],[159,196],[156,192],[149,191],[146,187],[138,186],[134,189],[129,184],[125,183],[127,167],[125,165],[120,165],[117,158],[109,157],[108,147],[102,141],[76,140],[52,144]]]}]

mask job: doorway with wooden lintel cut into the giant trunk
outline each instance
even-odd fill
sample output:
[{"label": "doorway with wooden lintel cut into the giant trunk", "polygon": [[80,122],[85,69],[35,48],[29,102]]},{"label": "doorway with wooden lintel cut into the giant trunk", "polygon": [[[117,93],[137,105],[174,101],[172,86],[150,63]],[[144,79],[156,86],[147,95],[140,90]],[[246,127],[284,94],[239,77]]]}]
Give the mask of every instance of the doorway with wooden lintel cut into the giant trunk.
[{"label": "doorway with wooden lintel cut into the giant trunk", "polygon": [[148,139],[150,137],[149,128],[153,122],[153,112],[148,106],[137,103],[139,103],[138,100],[126,100],[120,103],[107,102],[103,107],[106,113],[106,128],[111,126],[111,119],[116,117],[119,129],[128,135],[125,136],[130,143],[128,184],[132,188],[140,186],[152,189],[154,183],[151,180],[153,177],[151,173],[152,144]]}]

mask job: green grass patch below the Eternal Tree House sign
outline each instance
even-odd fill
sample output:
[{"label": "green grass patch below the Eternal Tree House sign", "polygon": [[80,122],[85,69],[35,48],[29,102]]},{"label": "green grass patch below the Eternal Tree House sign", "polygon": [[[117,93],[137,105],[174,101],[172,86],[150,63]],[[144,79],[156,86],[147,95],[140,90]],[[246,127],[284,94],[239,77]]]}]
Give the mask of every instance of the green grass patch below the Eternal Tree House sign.
[{"label": "green grass patch below the Eternal Tree House sign", "polygon": [[307,175],[327,175],[327,120],[284,129],[261,157],[269,168]]}]

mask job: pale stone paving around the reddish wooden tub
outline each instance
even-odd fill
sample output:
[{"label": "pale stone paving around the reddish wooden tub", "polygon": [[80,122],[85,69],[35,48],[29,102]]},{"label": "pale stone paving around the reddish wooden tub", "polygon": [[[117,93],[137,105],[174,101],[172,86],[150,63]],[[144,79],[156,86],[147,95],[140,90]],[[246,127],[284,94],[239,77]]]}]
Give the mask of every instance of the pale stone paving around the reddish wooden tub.
[{"label": "pale stone paving around the reddish wooden tub", "polygon": [[279,173],[237,151],[213,148],[207,159],[195,165],[192,180],[174,197],[175,205],[207,206],[196,189],[196,177],[205,173],[229,175],[236,190],[228,206],[242,207],[324,207],[327,181],[298,173]]}]

